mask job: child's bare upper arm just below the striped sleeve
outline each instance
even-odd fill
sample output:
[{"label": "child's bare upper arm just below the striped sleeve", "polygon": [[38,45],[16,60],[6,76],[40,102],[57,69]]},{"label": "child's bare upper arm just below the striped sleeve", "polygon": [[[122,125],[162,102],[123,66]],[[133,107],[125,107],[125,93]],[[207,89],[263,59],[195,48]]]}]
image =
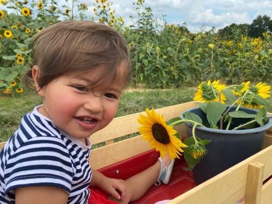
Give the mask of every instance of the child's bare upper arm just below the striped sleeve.
[{"label": "child's bare upper arm just below the striped sleeve", "polygon": [[15,189],[16,204],[67,204],[68,193],[51,186],[30,186]]}]

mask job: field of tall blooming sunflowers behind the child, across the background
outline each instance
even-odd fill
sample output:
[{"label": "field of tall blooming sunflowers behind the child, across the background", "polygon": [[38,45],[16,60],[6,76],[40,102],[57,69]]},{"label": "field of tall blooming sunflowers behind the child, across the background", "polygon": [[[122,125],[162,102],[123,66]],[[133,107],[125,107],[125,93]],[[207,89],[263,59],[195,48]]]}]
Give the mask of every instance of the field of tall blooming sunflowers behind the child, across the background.
[{"label": "field of tall blooming sunflowers behind the child, across the background", "polygon": [[[133,3],[138,14],[125,26],[109,0],[92,5],[66,0],[0,0],[0,92],[24,92],[22,77],[30,69],[32,36],[61,20],[93,20],[113,27],[125,37],[131,52],[131,85],[149,88],[195,86],[208,79],[232,84],[240,81],[268,82],[272,77],[272,35],[259,38],[237,30],[230,39],[220,38],[214,29],[191,33],[186,25],[168,24],[164,16],[153,16],[143,0]],[[9,12],[8,10],[9,9]],[[10,12],[12,10],[12,12]],[[163,22],[163,23],[161,23]]]}]

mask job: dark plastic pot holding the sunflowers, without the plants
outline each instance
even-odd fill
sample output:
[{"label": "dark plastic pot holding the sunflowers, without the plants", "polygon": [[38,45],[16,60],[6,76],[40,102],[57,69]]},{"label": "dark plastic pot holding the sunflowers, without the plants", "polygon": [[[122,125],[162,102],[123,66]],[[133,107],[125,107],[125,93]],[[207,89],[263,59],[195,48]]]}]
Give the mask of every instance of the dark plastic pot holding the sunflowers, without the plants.
[{"label": "dark plastic pot holding the sunflowers, without the plants", "polygon": [[[230,112],[235,111],[235,109],[236,107],[232,107]],[[239,110],[250,114],[256,114],[257,112],[248,108],[240,108]],[[208,124],[206,114],[200,108],[193,108],[188,110],[188,112],[200,116],[204,125]],[[182,115],[181,118],[183,118]],[[233,118],[233,124],[229,130],[196,127],[195,135],[197,137],[211,140],[209,144],[205,145],[208,150],[207,155],[193,168],[193,177],[196,184],[209,180],[211,177],[251,157],[262,149],[263,138],[266,130],[272,125],[272,118],[263,126],[257,123],[253,129],[232,131],[234,127],[250,120],[251,118]],[[191,136],[192,125],[189,122],[185,123],[187,134]],[[226,124],[224,129],[226,129]]]}]

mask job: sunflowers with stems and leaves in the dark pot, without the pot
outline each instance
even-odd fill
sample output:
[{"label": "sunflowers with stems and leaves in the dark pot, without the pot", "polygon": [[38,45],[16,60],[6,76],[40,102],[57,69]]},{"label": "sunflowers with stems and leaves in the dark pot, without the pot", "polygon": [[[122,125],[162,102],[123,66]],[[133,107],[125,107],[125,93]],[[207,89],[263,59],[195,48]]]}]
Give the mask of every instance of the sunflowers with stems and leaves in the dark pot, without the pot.
[{"label": "sunflowers with stems and leaves in the dark pot, without the pot", "polygon": [[[263,126],[269,121],[264,107],[269,106],[265,99],[270,97],[270,92],[270,86],[262,82],[256,86],[250,86],[249,81],[226,86],[220,84],[219,80],[204,81],[199,85],[194,100],[198,101],[197,105],[206,114],[208,124],[204,124],[198,115],[191,112],[183,113],[183,119],[177,117],[166,121],[163,115],[157,114],[152,108],[151,111],[146,109],[147,116],[140,114],[138,122],[142,126],[139,127],[139,131],[142,138],[148,140],[152,148],[160,151],[161,157],[164,157],[166,152],[171,159],[175,159],[179,158],[180,152],[184,152],[184,158],[191,170],[207,154],[205,145],[211,142],[196,136],[196,126],[229,130],[233,118],[250,118],[251,120],[233,127],[232,130],[252,129],[256,124]],[[231,103],[229,107],[225,103],[227,100]],[[235,111],[230,112],[234,106]],[[249,114],[239,110],[240,107],[259,109],[259,111],[256,114]],[[173,126],[181,125],[185,121],[193,125],[192,136],[181,142]]]}]

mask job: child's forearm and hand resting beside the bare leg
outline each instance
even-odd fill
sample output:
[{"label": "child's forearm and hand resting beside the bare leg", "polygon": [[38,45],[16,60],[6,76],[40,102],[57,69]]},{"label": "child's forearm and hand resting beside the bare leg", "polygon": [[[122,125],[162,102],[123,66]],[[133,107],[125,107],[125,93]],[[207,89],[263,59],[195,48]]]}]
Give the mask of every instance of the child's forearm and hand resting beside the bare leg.
[{"label": "child's forearm and hand resting beside the bare leg", "polygon": [[[111,179],[102,173],[92,169],[92,187],[98,187],[104,192],[112,195],[116,199],[123,200],[126,196],[127,189],[118,179]],[[121,193],[121,196],[116,191],[118,190]],[[16,203],[17,204],[17,203]]]}]

